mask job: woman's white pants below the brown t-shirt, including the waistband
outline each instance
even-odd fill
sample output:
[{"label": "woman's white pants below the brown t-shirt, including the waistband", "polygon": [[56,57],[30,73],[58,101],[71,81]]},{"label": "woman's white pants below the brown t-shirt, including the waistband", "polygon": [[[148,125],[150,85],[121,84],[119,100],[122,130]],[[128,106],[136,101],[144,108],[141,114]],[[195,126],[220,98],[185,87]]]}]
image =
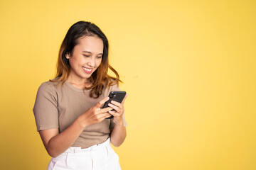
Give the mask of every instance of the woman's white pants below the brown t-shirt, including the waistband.
[{"label": "woman's white pants below the brown t-shirt, including the waistband", "polygon": [[119,157],[110,145],[110,137],[103,143],[85,149],[70,147],[58,157],[52,157],[48,170],[120,170]]}]

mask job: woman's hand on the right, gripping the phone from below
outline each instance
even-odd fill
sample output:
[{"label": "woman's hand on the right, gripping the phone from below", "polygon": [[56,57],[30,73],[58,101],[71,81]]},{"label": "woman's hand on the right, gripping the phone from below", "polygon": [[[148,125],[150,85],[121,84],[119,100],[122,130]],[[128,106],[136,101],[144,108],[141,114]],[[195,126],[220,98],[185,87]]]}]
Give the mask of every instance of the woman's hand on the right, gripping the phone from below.
[{"label": "woman's hand on the right, gripping the phone from below", "polygon": [[111,101],[111,103],[108,104],[108,106],[114,109],[114,111],[109,111],[109,113],[114,116],[113,121],[116,124],[119,124],[119,125],[123,124],[122,115],[124,113],[124,101],[125,101],[125,98],[127,98],[127,96],[128,94],[124,96],[122,103],[119,103],[117,101]]}]

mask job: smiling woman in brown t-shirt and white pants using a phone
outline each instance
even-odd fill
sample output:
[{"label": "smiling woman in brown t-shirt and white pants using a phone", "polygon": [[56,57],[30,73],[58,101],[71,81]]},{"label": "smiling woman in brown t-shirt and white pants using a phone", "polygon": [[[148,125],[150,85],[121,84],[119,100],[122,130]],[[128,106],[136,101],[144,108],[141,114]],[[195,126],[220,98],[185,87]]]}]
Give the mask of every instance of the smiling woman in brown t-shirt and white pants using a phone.
[{"label": "smiling woman in brown t-shirt and white pants using a phone", "polygon": [[[108,68],[116,77],[107,74]],[[127,135],[127,96],[102,108],[110,91],[119,90],[119,81],[108,63],[108,40],[100,28],[85,21],[73,24],[60,46],[55,79],[41,84],[33,108],[52,157],[48,169],[120,169],[110,142],[119,147]]]}]

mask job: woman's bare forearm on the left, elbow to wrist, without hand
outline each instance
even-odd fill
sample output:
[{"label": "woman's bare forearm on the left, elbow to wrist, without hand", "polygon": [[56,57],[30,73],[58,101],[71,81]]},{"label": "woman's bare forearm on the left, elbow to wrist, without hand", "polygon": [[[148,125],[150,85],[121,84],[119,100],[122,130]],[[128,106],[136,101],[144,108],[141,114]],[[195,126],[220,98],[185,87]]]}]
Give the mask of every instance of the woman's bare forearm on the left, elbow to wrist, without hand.
[{"label": "woman's bare forearm on the left, elbow to wrist, without hand", "polygon": [[75,120],[63,132],[60,132],[60,134],[50,139],[47,145],[48,154],[50,154],[51,157],[57,157],[59,154],[65,152],[65,150],[72,146],[75,140],[78,139],[84,128],[79,118]]}]

